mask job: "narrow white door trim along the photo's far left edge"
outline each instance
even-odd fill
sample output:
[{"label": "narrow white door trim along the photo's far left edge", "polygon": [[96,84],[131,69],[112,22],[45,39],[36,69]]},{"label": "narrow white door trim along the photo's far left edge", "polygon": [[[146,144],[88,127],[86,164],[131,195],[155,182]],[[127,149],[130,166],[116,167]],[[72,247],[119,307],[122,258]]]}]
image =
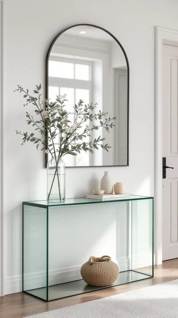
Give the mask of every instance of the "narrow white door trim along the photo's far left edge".
[{"label": "narrow white door trim along the photo's far left edge", "polygon": [[3,284],[3,4],[0,2],[0,296]]}]

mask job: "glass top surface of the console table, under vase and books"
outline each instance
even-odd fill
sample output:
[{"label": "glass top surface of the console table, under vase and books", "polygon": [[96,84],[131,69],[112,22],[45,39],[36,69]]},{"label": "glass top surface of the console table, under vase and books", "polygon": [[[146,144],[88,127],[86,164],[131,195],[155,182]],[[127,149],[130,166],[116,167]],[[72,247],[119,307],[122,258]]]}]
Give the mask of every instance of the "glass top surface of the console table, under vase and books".
[{"label": "glass top surface of the console table, under vase and books", "polygon": [[96,204],[96,203],[111,203],[111,202],[122,202],[122,201],[133,201],[133,200],[144,200],[144,199],[153,199],[153,197],[143,197],[143,196],[135,196],[129,195],[129,197],[120,197],[120,198],[112,198],[112,199],[89,199],[89,198],[73,198],[66,199],[64,202],[48,202],[48,201],[26,201],[23,202],[24,205],[32,205],[38,206],[42,208],[46,208],[47,206],[66,206],[66,205],[77,205],[77,204]]}]

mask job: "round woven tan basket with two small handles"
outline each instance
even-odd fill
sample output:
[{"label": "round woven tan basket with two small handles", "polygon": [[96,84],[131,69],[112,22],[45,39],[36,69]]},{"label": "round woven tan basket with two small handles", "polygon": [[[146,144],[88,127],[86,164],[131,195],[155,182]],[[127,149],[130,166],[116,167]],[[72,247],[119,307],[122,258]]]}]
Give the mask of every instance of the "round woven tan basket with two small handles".
[{"label": "round woven tan basket with two small handles", "polygon": [[88,285],[109,286],[117,280],[119,267],[111,261],[110,256],[91,256],[88,262],[82,265],[80,273]]}]

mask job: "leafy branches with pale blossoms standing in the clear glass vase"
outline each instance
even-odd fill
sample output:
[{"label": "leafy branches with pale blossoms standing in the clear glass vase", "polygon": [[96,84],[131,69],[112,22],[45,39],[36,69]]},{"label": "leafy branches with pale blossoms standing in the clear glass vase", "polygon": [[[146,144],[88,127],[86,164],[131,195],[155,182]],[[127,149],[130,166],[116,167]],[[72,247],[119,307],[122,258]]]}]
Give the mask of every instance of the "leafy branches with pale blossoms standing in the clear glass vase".
[{"label": "leafy branches with pale blossoms standing in the clear glass vase", "polygon": [[[50,102],[48,99],[41,100],[40,94],[41,84],[39,86],[36,85],[34,89],[34,93],[37,94],[37,97],[33,97],[29,94],[29,90],[25,91],[22,86],[17,85],[17,89],[15,91],[23,92],[25,95],[23,96],[26,98],[26,103],[23,104],[25,107],[28,106],[28,104],[35,105],[35,113],[36,115],[40,115],[40,121],[35,121],[33,116],[26,112],[26,117],[28,118],[27,122],[28,125],[33,123],[33,127],[35,126],[35,130],[38,130],[41,133],[41,138],[34,137],[34,133],[31,133],[28,135],[28,133],[21,133],[20,131],[16,130],[17,134],[20,134],[23,136],[22,139],[22,145],[26,141],[34,142],[36,143],[36,148],[38,149],[39,143],[41,142],[44,147],[41,149],[45,149],[45,153],[50,153],[52,157],[55,159],[55,171],[54,171],[54,177],[52,180],[51,188],[48,193],[48,199],[51,195],[52,187],[54,185],[54,180],[57,176],[57,183],[58,183],[58,189],[59,189],[59,197],[61,200],[61,193],[60,193],[60,178],[58,173],[58,164],[60,161],[60,158],[66,154],[68,155],[74,155],[77,156],[80,151],[88,151],[90,153],[94,153],[93,149],[99,149],[100,146],[102,149],[108,151],[109,148],[111,148],[108,144],[103,144],[103,141],[105,138],[101,138],[99,136],[98,138],[95,138],[94,141],[90,142],[82,142],[81,144],[77,143],[72,145],[72,143],[76,142],[76,140],[82,140],[83,138],[91,137],[89,132],[93,131],[93,129],[99,129],[99,127],[103,127],[106,129],[106,131],[109,132],[109,128],[112,128],[114,125],[111,122],[112,120],[115,120],[116,117],[113,118],[107,118],[108,112],[97,112],[97,114],[93,113],[94,109],[97,107],[97,103],[93,104],[90,103],[88,105],[84,105],[83,100],[79,100],[78,104],[74,105],[74,112],[75,112],[75,119],[73,123],[69,120],[69,112],[66,110],[65,107],[65,101],[66,101],[66,95],[63,96],[57,96],[55,102]],[[103,120],[103,117],[105,118],[105,121]],[[87,121],[93,121],[93,120],[99,120],[100,125],[92,125],[90,127],[87,124]],[[42,128],[38,125],[42,123]],[[84,131],[82,129],[82,133],[77,133],[77,130],[83,127],[83,124],[86,123],[86,128],[84,128]],[[48,135],[46,135],[46,132],[48,132]],[[54,145],[54,138],[59,138],[59,147],[58,149],[55,149]],[[44,138],[44,140],[42,140]],[[57,154],[57,152],[59,152]]]}]

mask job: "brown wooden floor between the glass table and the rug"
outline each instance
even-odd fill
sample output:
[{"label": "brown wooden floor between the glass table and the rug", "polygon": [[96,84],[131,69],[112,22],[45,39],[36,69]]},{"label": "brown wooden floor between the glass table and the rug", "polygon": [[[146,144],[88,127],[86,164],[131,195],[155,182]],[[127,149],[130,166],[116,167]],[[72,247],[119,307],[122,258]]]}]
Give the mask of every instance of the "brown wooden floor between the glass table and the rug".
[{"label": "brown wooden floor between the glass table and the rug", "polygon": [[33,296],[16,293],[0,297],[1,318],[22,318],[35,315],[44,311],[67,307],[86,301],[92,301],[130,290],[160,284],[178,279],[178,259],[164,261],[162,265],[155,266],[154,278],[138,282],[107,288],[96,292],[64,298],[46,303]]}]

